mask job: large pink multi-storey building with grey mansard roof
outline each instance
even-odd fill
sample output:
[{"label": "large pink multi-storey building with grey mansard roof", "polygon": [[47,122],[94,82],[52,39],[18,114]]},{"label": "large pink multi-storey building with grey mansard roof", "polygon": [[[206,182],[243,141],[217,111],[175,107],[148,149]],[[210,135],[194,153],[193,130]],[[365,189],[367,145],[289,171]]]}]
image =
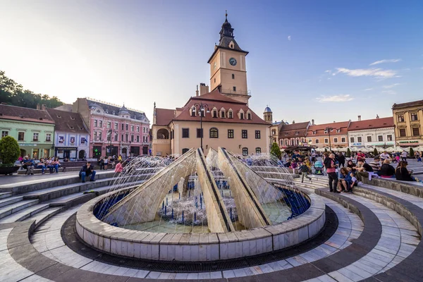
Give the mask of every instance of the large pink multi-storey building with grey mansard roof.
[{"label": "large pink multi-storey building with grey mansard roof", "polygon": [[149,154],[149,120],[144,112],[89,98],[78,98],[72,111],[90,130],[90,158]]}]

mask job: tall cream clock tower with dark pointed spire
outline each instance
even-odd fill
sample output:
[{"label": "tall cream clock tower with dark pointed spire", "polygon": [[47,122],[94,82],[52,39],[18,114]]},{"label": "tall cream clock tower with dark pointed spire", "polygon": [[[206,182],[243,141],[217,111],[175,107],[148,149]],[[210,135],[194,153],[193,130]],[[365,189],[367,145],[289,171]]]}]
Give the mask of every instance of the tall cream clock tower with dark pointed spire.
[{"label": "tall cream clock tower with dark pointed spire", "polygon": [[217,89],[227,97],[248,104],[250,94],[247,90],[245,68],[245,56],[248,52],[241,49],[235,41],[233,28],[228,22],[228,13],[219,33],[219,44],[214,46],[214,52],[207,61],[210,64],[211,89]]}]

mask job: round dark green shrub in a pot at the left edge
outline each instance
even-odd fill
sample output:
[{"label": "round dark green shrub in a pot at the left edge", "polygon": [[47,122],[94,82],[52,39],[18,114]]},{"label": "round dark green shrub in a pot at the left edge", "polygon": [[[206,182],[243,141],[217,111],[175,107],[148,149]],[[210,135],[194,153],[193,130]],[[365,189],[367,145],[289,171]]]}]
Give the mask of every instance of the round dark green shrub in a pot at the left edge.
[{"label": "round dark green shrub in a pot at the left edge", "polygon": [[12,175],[18,171],[20,166],[15,165],[15,161],[20,155],[18,142],[11,136],[6,136],[0,140],[0,174]]}]

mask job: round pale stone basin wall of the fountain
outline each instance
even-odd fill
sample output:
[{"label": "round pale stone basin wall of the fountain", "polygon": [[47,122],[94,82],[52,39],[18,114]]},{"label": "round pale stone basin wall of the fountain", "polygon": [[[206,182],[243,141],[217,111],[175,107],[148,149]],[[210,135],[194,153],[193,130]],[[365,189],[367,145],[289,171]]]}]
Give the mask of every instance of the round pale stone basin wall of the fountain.
[{"label": "round pale stone basin wall of the fountain", "polygon": [[112,255],[159,261],[202,262],[234,259],[283,250],[313,238],[326,221],[325,205],[314,193],[284,187],[305,197],[310,203],[303,214],[260,228],[227,233],[154,233],[135,231],[100,221],[94,209],[123,188],[94,198],[80,207],[76,231],[90,247]]}]

